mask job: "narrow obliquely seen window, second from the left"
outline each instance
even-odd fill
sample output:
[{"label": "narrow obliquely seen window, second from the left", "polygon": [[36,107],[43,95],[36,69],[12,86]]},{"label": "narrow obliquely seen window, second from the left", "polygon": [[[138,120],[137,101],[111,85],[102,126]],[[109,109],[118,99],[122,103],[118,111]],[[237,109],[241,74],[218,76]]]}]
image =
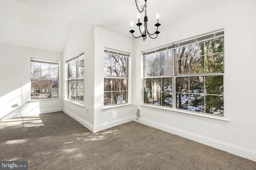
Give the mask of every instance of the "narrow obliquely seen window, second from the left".
[{"label": "narrow obliquely seen window, second from the left", "polygon": [[66,61],[68,63],[68,99],[84,102],[84,52]]}]

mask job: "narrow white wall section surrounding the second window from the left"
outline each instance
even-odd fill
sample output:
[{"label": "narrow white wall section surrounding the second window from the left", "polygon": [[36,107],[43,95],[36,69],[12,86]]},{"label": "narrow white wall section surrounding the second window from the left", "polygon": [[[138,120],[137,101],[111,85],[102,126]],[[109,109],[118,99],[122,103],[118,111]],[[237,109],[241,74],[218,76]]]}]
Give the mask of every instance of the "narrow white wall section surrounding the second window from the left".
[{"label": "narrow white wall section surrounding the second window from the left", "polygon": [[[63,98],[67,99],[67,70],[65,60],[84,51],[84,107],[63,100],[63,111],[93,131],[94,125],[94,29],[73,23],[63,51]],[[88,114],[86,113],[88,108]]]}]

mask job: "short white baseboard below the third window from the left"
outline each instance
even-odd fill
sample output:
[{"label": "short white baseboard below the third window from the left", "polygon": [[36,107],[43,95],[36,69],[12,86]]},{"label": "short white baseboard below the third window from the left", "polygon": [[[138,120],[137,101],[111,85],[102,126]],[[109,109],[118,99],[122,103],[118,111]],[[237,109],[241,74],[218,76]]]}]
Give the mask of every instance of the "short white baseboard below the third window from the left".
[{"label": "short white baseboard below the third window from the left", "polygon": [[94,131],[93,132],[102,131],[104,129],[108,129],[110,127],[121,125],[121,124],[130,122],[130,121],[133,121],[133,116],[125,117],[123,119],[118,119],[118,120],[115,120],[115,121],[110,121],[108,123],[104,123],[104,124],[100,124],[100,125],[96,125],[96,126],[94,126]]}]

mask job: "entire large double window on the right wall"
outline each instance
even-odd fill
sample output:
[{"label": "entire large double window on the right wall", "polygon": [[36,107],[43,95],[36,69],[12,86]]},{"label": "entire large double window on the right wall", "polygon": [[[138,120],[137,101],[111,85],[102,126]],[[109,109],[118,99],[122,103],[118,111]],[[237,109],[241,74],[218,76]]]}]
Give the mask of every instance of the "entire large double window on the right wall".
[{"label": "entire large double window on the right wall", "polygon": [[144,53],[145,104],[224,115],[224,31],[158,51]]}]

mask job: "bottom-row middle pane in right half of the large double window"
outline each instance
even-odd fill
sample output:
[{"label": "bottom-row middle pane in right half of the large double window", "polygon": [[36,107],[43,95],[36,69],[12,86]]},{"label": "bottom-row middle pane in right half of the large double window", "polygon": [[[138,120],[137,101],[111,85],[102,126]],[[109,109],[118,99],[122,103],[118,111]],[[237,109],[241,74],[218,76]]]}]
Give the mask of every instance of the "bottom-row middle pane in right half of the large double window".
[{"label": "bottom-row middle pane in right half of the large double window", "polygon": [[189,110],[204,112],[204,95],[203,94],[190,94]]}]

